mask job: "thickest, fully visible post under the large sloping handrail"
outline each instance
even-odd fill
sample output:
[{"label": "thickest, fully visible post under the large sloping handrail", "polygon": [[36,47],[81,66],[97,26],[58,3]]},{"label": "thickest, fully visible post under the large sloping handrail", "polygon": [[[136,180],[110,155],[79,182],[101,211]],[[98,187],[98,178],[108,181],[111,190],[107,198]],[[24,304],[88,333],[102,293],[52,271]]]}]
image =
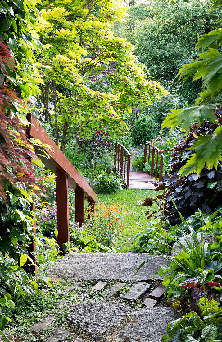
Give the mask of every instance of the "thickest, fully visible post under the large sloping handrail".
[{"label": "thickest, fully visible post under the large sloping handrail", "polygon": [[69,241],[68,177],[64,172],[56,172],[56,206],[58,245],[63,251],[63,244]]}]

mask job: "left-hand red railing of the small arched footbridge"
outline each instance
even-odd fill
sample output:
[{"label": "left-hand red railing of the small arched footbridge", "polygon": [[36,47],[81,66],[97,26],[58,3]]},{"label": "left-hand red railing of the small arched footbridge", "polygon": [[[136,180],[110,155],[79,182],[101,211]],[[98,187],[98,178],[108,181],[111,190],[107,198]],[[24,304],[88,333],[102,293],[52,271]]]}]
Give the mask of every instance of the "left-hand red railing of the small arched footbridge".
[{"label": "left-hand red railing of the small arched footbridge", "polygon": [[131,154],[125,146],[120,143],[115,143],[114,166],[117,171],[120,172],[120,175],[126,182],[127,187],[129,186],[130,157]]}]

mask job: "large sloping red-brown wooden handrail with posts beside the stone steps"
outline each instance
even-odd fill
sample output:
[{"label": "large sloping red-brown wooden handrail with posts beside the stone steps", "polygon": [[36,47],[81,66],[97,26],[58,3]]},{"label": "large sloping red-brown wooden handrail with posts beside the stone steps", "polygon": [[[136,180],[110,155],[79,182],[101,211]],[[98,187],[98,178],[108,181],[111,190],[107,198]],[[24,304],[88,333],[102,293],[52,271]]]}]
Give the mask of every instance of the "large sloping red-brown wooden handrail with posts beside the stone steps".
[{"label": "large sloping red-brown wooden handrail with posts beside the stone steps", "polygon": [[[84,223],[85,198],[88,200],[88,203],[92,205],[91,210],[93,210],[94,203],[97,203],[97,195],[66,158],[63,152],[61,152],[59,147],[41,126],[40,122],[30,113],[27,114],[27,120],[29,122],[26,128],[27,136],[29,138],[39,139],[42,143],[51,145],[53,148],[53,152],[49,150],[46,151],[50,155],[50,158],[39,156],[39,159],[41,159],[42,163],[49,170],[56,174],[58,245],[62,251],[62,245],[69,241],[68,186],[75,190],[75,221],[79,222],[80,227]],[[34,242],[32,243],[32,250],[35,250]]]}]

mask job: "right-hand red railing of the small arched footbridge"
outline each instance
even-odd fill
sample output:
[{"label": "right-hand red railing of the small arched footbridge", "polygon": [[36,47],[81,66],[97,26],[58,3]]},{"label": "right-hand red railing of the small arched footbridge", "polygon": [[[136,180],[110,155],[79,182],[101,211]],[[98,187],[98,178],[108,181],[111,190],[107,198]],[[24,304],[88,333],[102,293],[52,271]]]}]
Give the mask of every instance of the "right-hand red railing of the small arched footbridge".
[{"label": "right-hand red railing of the small arched footbridge", "polygon": [[158,147],[151,145],[149,143],[144,144],[144,159],[143,163],[145,164],[147,162],[147,148],[149,146],[148,151],[148,162],[150,162],[150,156],[151,156],[151,149],[152,149],[152,156],[151,156],[151,170],[150,175],[153,177],[154,173],[154,158],[156,153],[156,173],[155,173],[155,179],[157,179],[157,165],[158,165],[158,157],[160,156],[160,168],[159,168],[159,180],[162,180],[163,177],[163,158],[165,157],[163,154],[163,151],[161,151]]}]

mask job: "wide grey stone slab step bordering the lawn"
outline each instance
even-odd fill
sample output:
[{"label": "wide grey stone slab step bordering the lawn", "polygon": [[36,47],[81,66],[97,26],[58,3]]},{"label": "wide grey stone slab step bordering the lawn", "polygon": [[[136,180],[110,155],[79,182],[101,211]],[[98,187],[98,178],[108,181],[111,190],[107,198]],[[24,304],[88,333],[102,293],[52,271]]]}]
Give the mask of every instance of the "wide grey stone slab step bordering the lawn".
[{"label": "wide grey stone slab step bordering the lawn", "polygon": [[[138,257],[138,261],[137,261]],[[139,265],[153,255],[140,253],[72,253],[56,260],[56,265],[46,268],[50,278],[62,279],[122,279],[151,280],[161,265],[166,266],[163,257],[147,262],[135,276]],[[137,261],[137,265],[136,265]],[[136,266],[136,268],[135,268]],[[155,277],[162,280],[161,276]]]}]

